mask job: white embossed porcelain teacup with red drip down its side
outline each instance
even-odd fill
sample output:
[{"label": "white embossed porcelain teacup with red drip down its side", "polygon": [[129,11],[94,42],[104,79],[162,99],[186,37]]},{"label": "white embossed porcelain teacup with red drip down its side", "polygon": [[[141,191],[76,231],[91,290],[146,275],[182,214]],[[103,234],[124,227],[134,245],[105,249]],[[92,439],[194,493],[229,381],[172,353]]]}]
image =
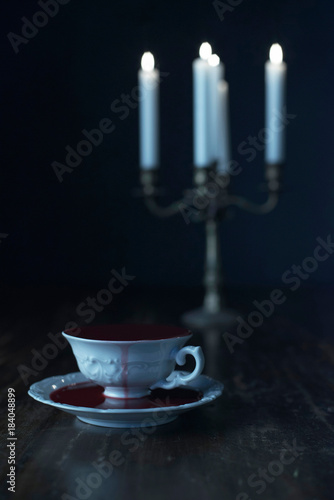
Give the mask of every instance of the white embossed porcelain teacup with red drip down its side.
[{"label": "white embossed porcelain teacup with red drip down its side", "polygon": [[[197,378],[204,367],[202,349],[184,344],[192,333],[164,325],[102,325],[65,330],[79,370],[102,385],[104,395],[140,398],[151,389],[173,389]],[[196,361],[192,373],[174,371],[186,355]]]}]

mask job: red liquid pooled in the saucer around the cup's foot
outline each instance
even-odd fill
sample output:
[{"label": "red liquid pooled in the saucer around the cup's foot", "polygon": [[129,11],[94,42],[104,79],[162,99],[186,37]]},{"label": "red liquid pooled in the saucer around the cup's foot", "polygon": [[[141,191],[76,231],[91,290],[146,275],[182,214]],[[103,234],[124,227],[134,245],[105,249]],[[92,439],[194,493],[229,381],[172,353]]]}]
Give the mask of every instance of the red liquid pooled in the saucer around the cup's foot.
[{"label": "red liquid pooled in the saucer around the cup's foot", "polygon": [[52,391],[50,398],[55,403],[85,408],[142,410],[145,408],[168,408],[200,401],[203,394],[199,391],[177,387],[176,389],[154,389],[149,396],[138,399],[117,399],[103,395],[104,388],[94,382],[81,382],[67,385]]}]

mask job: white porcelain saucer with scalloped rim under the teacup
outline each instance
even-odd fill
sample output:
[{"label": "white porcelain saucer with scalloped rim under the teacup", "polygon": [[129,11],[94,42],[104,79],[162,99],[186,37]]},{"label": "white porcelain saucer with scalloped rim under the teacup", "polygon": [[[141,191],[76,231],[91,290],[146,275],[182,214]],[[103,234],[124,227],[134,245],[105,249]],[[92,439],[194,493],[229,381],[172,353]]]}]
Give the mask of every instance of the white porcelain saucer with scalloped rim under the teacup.
[{"label": "white porcelain saucer with scalloped rim under the teacup", "polygon": [[[187,374],[187,372],[183,373]],[[173,390],[163,392],[160,390],[155,397],[150,398],[150,407],[142,407],[142,398],[126,401],[104,398],[102,387],[89,381],[81,372],[75,372],[36,382],[30,387],[28,394],[36,401],[71,413],[88,424],[101,427],[155,427],[172,422],[181,413],[211,403],[222,394],[223,388],[221,382],[206,375],[200,375],[187,386],[181,387],[177,396]],[[81,406],[80,400],[79,402],[74,400],[74,404],[59,402],[61,401],[59,395],[64,393],[69,396],[69,401],[71,397],[72,399],[75,397],[73,394],[80,393],[84,395],[84,403]],[[89,402],[93,393],[95,399],[101,397],[101,401],[98,400],[98,407],[92,406]]]}]

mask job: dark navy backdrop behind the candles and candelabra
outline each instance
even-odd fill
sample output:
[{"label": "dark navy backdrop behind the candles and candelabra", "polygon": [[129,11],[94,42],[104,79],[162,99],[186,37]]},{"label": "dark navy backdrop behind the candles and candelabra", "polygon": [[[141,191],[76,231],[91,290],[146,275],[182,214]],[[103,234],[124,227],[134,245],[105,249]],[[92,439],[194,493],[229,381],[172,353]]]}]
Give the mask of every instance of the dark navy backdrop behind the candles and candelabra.
[{"label": "dark navy backdrop behind the candles and candelabra", "polygon": [[[228,3],[227,0],[225,3]],[[248,163],[238,145],[264,126],[264,63],[279,42],[288,64],[285,192],[266,216],[230,212],[221,227],[227,283],[280,284],[282,274],[333,233],[333,28],[331,0],[244,0],[220,20],[211,1],[71,0],[15,54],[35,1],[11,0],[1,15],[1,275],[6,284],[104,286],[125,266],[137,285],[198,285],[204,228],[179,215],[159,220],[133,196],[138,185],[138,111],[110,106],[137,85],[144,51],[161,71],[162,180],[166,202],[192,177],[192,71],[207,40],[230,84],[233,158],[243,172],[233,190],[265,195],[263,154]],[[83,129],[110,118],[115,130],[60,183]],[[309,283],[331,284],[334,256]]]}]

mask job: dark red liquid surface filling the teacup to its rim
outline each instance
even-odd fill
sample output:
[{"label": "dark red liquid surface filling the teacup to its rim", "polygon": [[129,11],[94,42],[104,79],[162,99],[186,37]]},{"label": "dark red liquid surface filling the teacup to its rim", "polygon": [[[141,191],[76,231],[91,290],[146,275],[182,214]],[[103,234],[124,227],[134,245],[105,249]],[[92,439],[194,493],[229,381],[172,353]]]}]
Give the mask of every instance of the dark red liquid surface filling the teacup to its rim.
[{"label": "dark red liquid surface filling the teacup to its rim", "polygon": [[111,342],[138,342],[186,337],[191,332],[186,328],[167,325],[97,325],[71,328],[64,333],[86,340],[109,340]]}]

